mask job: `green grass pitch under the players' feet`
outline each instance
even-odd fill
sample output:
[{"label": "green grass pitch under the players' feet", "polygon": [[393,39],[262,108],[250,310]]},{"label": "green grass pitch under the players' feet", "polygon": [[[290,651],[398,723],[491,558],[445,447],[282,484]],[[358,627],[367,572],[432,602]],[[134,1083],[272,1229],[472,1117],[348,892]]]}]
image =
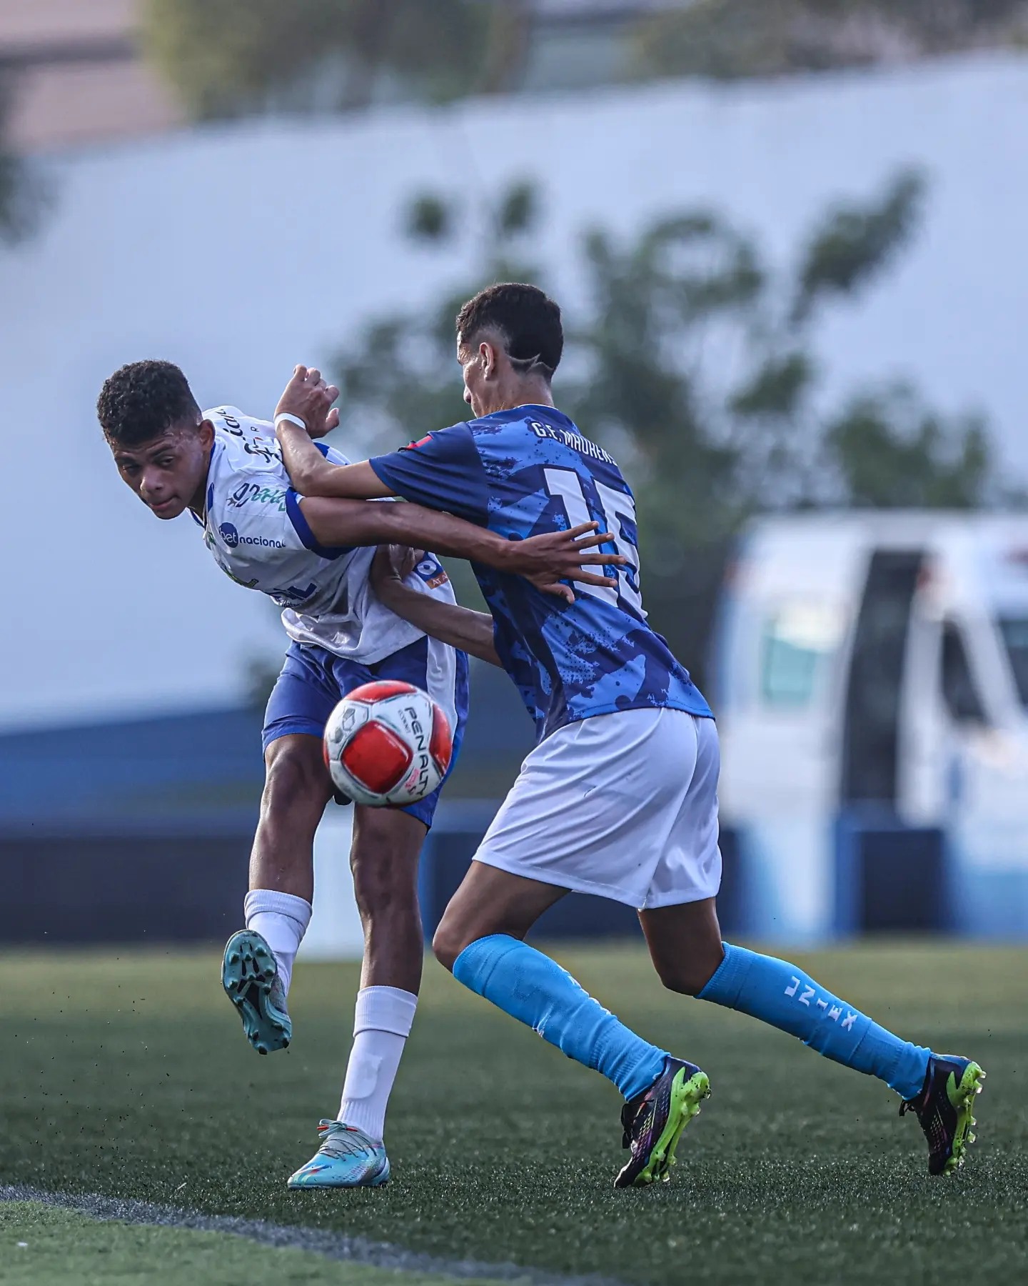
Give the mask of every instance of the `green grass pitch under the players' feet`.
[{"label": "green grass pitch under the players' feet", "polygon": [[[979,1143],[951,1181],[928,1178],[916,1123],[897,1118],[876,1082],[662,992],[634,948],[558,954],[642,1034],[711,1075],[669,1184],[616,1193],[612,1087],[429,962],[388,1121],[393,1182],[288,1192],[317,1118],[335,1111],[356,968],[299,966],[293,1047],[260,1058],[221,994],[218,953],[154,950],[0,957],[0,1186],[646,1286],[1028,1278],[1028,953],[883,944],[795,957],[889,1026],[983,1064]],[[0,1205],[4,1283],[131,1283],[155,1264],[162,1281],[193,1286],[439,1280]]]}]

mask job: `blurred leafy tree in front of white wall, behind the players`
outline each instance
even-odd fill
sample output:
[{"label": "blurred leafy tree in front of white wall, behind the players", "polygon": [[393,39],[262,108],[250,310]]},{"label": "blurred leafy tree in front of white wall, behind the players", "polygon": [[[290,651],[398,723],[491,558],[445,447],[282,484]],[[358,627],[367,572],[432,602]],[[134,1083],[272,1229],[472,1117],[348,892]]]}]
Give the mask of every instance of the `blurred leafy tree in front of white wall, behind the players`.
[{"label": "blurred leafy tree in front of white wall, behind the players", "polygon": [[[586,289],[565,311],[558,399],[631,478],[648,604],[693,662],[731,538],[754,513],[971,507],[998,493],[980,421],[933,412],[908,386],[824,405],[813,325],[896,261],[923,194],[903,172],[873,201],[828,210],[784,269],[709,211],[659,220],[625,244],[599,230],[582,239]],[[478,242],[483,267],[438,302],[375,322],[342,354],[348,444],[396,445],[465,418],[454,318],[486,282],[538,279],[520,262],[538,212],[524,184],[479,216],[437,194],[412,203],[412,235],[459,239],[465,256]]]}]

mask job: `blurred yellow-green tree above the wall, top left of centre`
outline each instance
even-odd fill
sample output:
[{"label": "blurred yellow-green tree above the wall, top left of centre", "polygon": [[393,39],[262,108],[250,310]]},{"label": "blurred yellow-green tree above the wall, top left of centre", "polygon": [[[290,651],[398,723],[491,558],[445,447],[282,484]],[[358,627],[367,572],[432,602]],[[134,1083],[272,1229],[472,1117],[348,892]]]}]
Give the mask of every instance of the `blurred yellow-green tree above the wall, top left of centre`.
[{"label": "blurred yellow-green tree above the wall, top left of centre", "polygon": [[383,76],[445,102],[502,89],[527,5],[482,0],[145,0],[144,45],[197,118],[365,105]]}]

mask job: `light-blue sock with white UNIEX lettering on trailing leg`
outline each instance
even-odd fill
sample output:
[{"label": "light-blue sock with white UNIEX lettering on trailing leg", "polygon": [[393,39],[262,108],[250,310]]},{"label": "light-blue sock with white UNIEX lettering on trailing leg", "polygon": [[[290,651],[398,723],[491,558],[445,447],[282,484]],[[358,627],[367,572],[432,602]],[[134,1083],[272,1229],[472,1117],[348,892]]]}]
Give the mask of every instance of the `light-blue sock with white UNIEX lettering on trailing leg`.
[{"label": "light-blue sock with white UNIEX lettering on trailing leg", "polygon": [[915,1098],[924,1087],[930,1049],[901,1040],[774,955],[725,943],[725,959],[699,999],[799,1037],[826,1058],[878,1076],[903,1098]]}]

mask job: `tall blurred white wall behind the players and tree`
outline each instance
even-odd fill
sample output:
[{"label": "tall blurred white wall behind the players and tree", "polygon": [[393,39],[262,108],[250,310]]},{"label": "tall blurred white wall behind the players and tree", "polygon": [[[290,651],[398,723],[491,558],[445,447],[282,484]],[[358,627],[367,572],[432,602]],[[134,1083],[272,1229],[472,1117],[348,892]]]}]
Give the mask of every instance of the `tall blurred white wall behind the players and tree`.
[{"label": "tall blurred white wall behind the players and tree", "polygon": [[216,570],[190,520],[159,523],[121,485],[96,392],[123,361],[163,356],[206,405],[266,414],[294,361],[324,363],[364,319],[466,276],[461,251],[400,238],[424,188],[474,201],[538,177],[537,256],[573,292],[582,225],[628,233],[708,203],[784,253],[828,199],[919,163],[924,234],[829,319],[831,379],[908,374],[943,408],[982,406],[1028,475],[1025,139],[1028,59],[982,57],[245,123],[63,158],[41,234],[0,252],[0,723],[231,701],[244,662],[281,648],[269,604]]}]

